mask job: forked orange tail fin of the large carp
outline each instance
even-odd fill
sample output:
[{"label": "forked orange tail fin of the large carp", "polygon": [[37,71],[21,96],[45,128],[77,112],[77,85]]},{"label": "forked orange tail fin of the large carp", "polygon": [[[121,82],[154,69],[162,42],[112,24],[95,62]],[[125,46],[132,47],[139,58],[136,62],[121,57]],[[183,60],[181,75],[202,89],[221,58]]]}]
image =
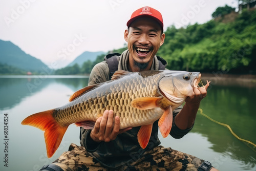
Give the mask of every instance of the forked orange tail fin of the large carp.
[{"label": "forked orange tail fin of the large carp", "polygon": [[54,110],[39,112],[28,116],[23,125],[31,125],[45,131],[45,141],[48,158],[56,152],[68,126],[61,127],[53,117]]}]

